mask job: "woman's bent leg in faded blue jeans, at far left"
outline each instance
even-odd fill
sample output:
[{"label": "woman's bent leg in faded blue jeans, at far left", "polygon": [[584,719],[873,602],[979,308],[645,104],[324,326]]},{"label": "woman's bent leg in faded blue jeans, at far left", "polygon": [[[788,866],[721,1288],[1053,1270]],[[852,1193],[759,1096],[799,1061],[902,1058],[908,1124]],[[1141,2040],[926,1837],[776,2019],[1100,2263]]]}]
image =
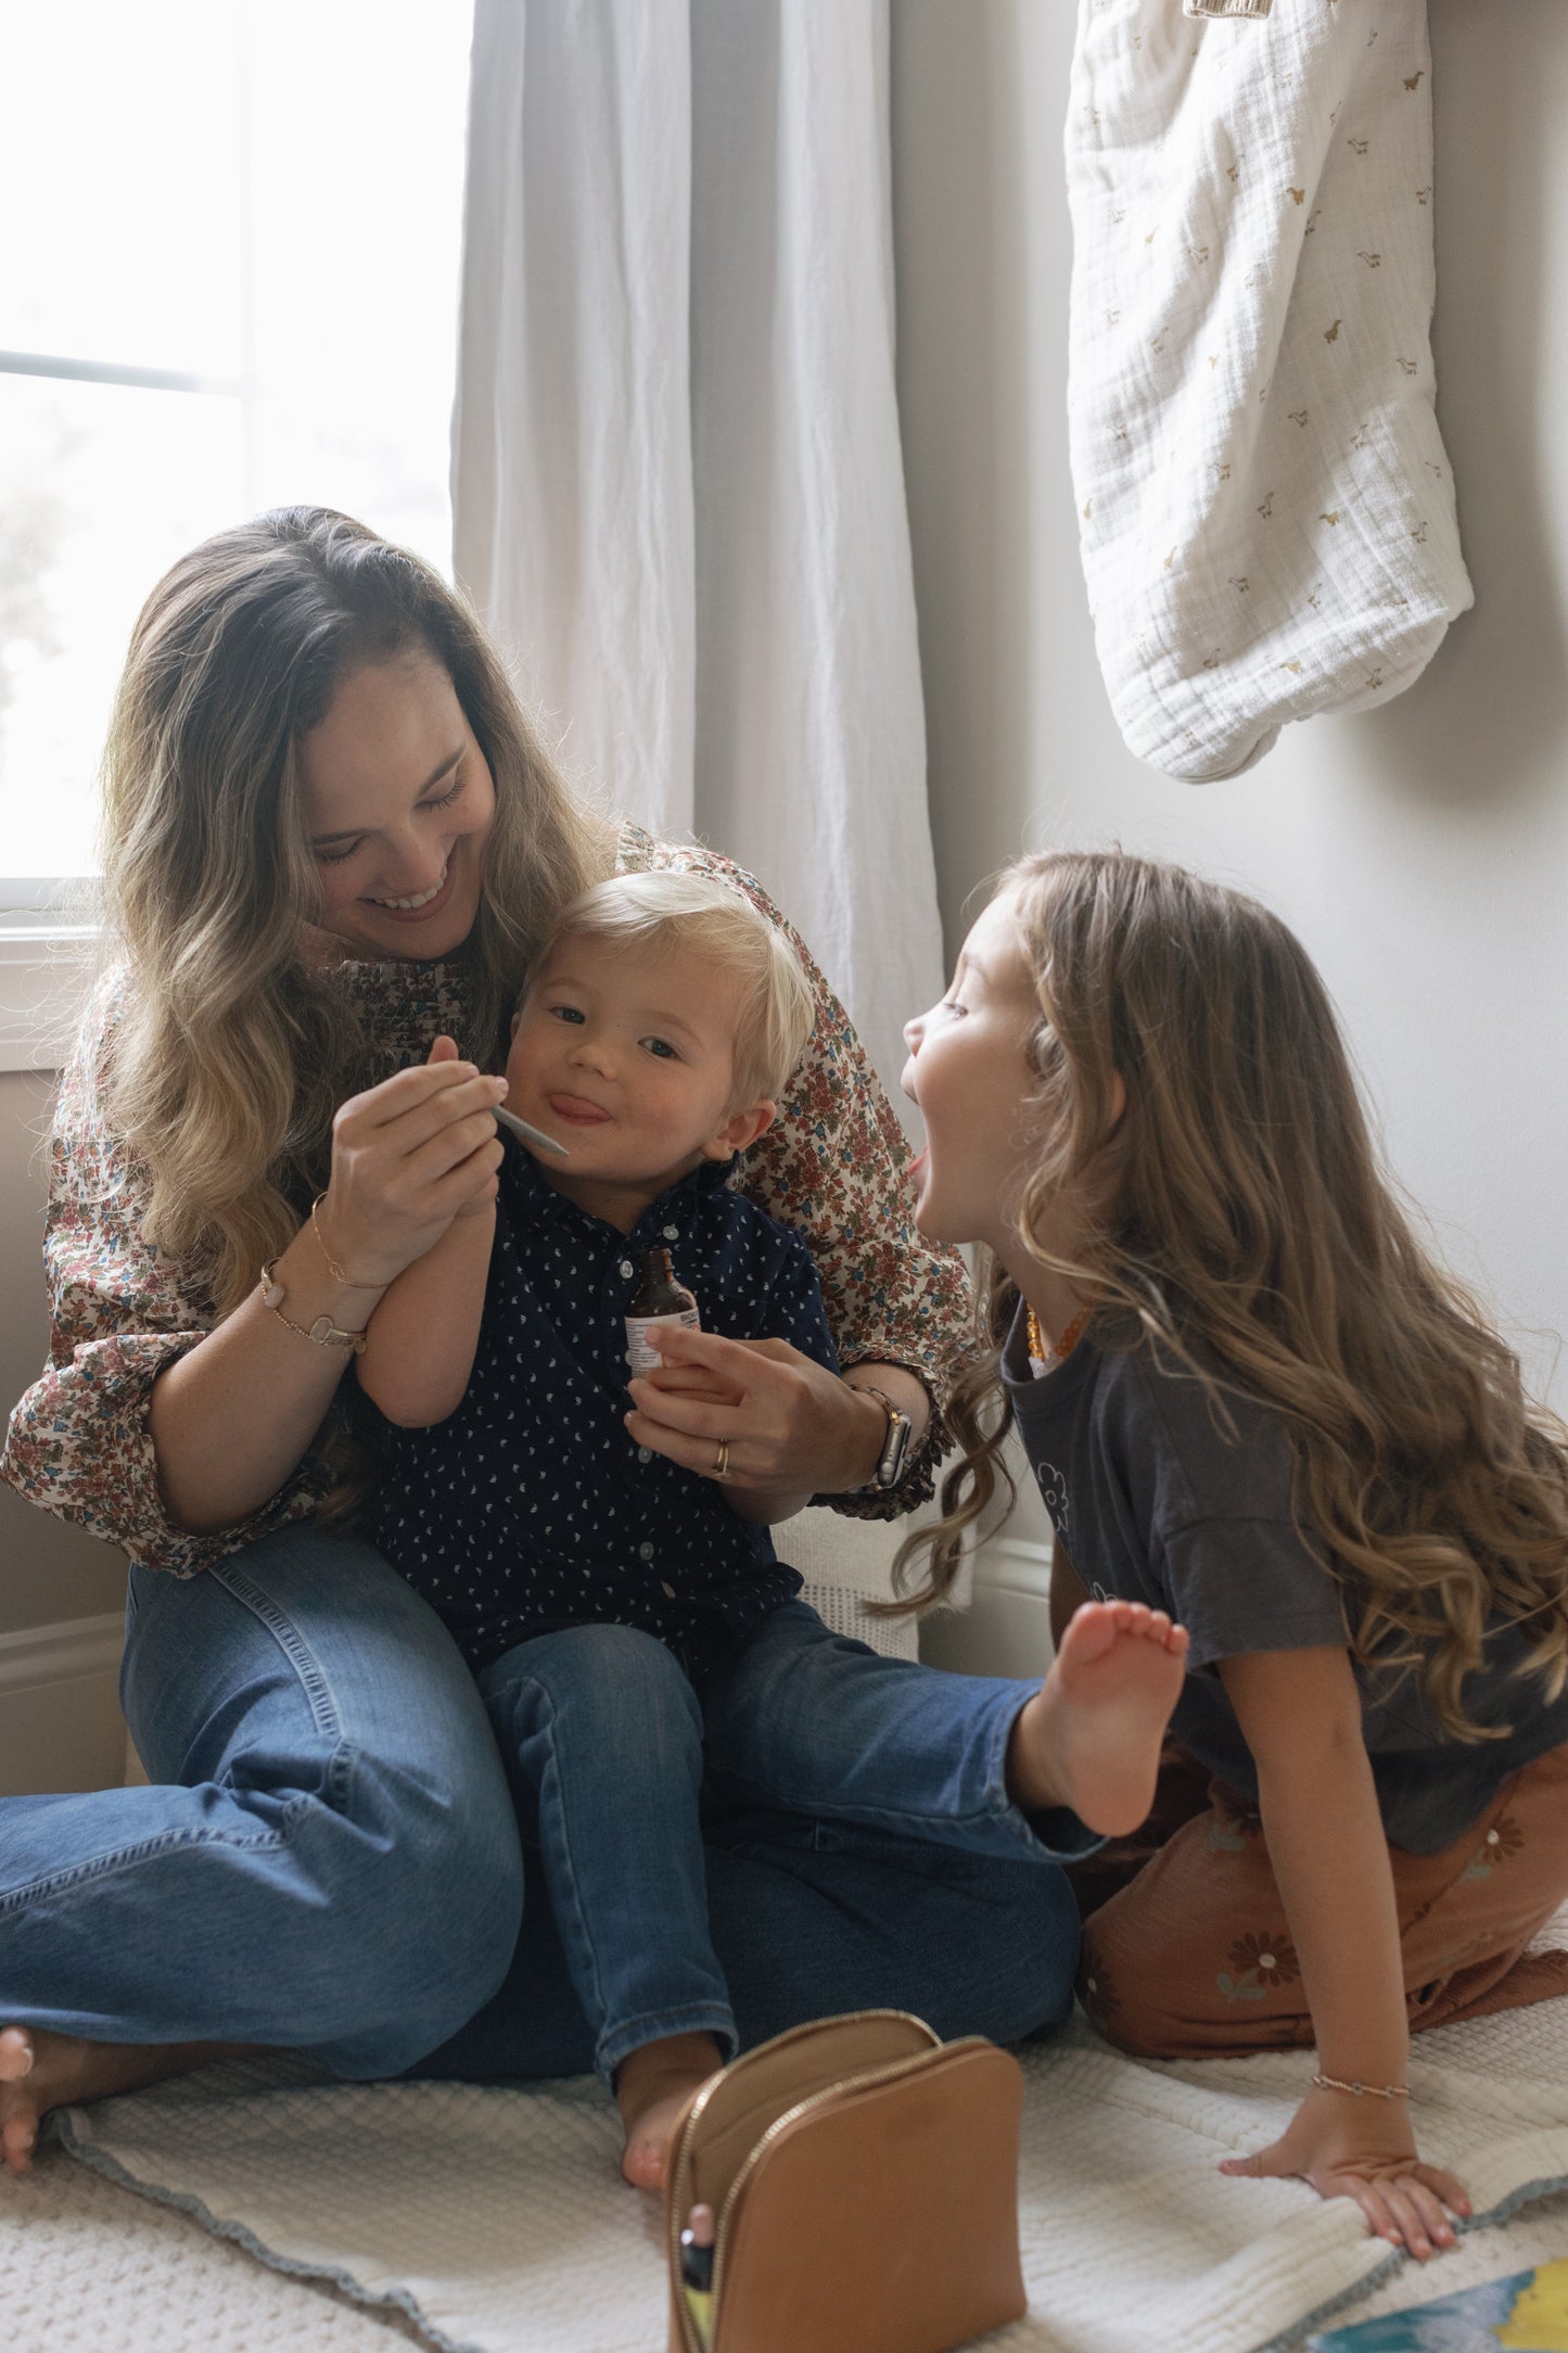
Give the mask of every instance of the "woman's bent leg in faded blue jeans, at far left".
[{"label": "woman's bent leg in faded blue jeans, at far left", "polygon": [[505,1777],[378,1553],[289,1527],[190,1581],[132,1569],[120,1697],[158,1786],[0,1800],[0,2017],[393,2075],[496,1991]]}]

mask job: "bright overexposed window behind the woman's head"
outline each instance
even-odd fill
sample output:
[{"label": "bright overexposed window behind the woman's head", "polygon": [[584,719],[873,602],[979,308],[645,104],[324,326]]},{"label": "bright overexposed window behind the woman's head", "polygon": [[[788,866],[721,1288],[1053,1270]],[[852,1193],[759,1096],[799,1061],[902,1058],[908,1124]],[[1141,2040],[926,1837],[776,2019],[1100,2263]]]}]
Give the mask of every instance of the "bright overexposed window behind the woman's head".
[{"label": "bright overexposed window behind the woman's head", "polygon": [[0,19],[0,911],[89,871],[183,548],[320,501],[449,565],[468,35],[465,0]]}]

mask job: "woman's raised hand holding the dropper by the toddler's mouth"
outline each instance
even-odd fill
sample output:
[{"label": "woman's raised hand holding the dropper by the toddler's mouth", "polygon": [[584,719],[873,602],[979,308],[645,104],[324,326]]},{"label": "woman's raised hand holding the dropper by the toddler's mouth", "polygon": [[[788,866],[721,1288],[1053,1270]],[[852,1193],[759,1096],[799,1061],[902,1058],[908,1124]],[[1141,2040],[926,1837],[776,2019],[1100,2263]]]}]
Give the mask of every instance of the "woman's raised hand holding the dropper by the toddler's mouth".
[{"label": "woman's raised hand holding the dropper by the toddler's mouth", "polygon": [[331,1122],[331,1181],[320,1226],[362,1289],[393,1282],[440,1242],[454,1217],[496,1195],[503,1078],[458,1061],[437,1038],[430,1061],[350,1096]]}]

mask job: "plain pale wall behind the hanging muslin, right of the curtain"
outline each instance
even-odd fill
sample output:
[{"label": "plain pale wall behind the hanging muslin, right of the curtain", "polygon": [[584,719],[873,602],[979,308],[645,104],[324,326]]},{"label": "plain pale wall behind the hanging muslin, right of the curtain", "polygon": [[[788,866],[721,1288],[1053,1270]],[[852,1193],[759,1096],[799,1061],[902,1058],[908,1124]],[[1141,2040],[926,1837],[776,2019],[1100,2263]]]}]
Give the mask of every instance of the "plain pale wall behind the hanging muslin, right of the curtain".
[{"label": "plain pale wall behind the hanging muslin, right of the curtain", "polygon": [[1074,14],[893,0],[950,951],[964,894],[1025,842],[1121,840],[1267,899],[1340,1002],[1394,1167],[1544,1379],[1568,1329],[1568,7],[1432,0],[1439,416],[1476,612],[1396,704],[1286,729],[1208,786],[1133,760],[1093,656],[1065,435]]}]

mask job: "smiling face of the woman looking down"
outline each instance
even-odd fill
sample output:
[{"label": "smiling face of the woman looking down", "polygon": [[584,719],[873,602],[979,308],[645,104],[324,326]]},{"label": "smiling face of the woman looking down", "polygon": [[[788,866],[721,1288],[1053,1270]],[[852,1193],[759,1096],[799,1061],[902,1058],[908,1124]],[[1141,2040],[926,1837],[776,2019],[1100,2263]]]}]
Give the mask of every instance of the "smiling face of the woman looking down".
[{"label": "smiling face of the woman looking down", "polygon": [[447,671],[395,654],[350,671],[299,739],[320,925],[355,955],[451,955],[480,913],[496,786]]}]

